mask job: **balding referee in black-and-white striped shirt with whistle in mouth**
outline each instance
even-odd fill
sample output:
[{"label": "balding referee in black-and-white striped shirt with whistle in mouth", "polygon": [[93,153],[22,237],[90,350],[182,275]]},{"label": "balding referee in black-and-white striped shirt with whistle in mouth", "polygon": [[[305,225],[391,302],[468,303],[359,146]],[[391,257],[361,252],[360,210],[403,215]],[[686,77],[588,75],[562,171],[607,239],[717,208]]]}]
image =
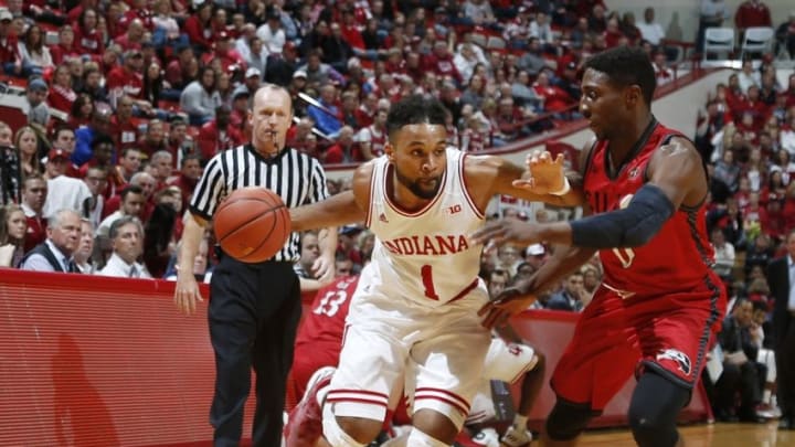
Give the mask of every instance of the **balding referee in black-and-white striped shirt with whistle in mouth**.
[{"label": "balding referee in black-and-white striped shirt with whistle in mouth", "polygon": [[[285,149],[293,121],[293,104],[284,88],[267,84],[254,95],[248,119],[252,142],[213,157],[197,184],[190,217],[182,236],[174,304],[191,315],[202,301],[193,277],[193,259],[219,203],[232,191],[264,187],[282,196],[288,207],[328,196],[320,163],[295,149]],[[300,257],[298,234],[293,233],[272,259],[244,264],[220,254],[210,283],[208,320],[215,351],[215,394],[210,408],[215,446],[237,446],[243,432],[243,407],[256,373],[254,446],[282,443],[285,382],[293,364],[293,344],[300,317],[300,290],[293,264]],[[333,278],[336,228],[319,235],[321,255],[315,274]]]}]

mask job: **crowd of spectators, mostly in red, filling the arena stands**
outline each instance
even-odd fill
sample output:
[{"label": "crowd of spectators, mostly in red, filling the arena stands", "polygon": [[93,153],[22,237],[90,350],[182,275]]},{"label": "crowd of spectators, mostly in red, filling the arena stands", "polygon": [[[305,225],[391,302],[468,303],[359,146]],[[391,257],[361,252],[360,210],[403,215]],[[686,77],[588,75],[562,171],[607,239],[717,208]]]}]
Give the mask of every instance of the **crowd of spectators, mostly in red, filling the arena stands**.
[{"label": "crowd of spectators, mostly in red, filling the arena stands", "polygon": [[[781,43],[793,53],[795,15],[787,23]],[[601,0],[7,0],[0,62],[26,85],[28,123],[0,123],[0,267],[173,278],[181,215],[202,167],[247,141],[247,108],[263,82],[293,95],[288,145],[325,163],[383,153],[390,104],[409,94],[438,97],[449,142],[474,152],[581,118],[581,66],[615,45],[642,45],[658,83],[674,78],[676,50],[654,9],[638,23]],[[757,348],[771,309],[764,268],[795,227],[795,75],[780,85],[770,61],[745,63],[720,84],[693,136],[712,177],[714,268],[736,302],[727,330]],[[329,183],[332,193],[350,188]],[[311,234],[304,240],[298,268],[317,256]],[[339,240],[338,270],[356,273],[373,235],[344,227]],[[194,268],[204,280],[211,247],[208,234]],[[531,275],[551,249],[487,249],[491,292]],[[594,258],[533,306],[581,311],[601,275]],[[743,350],[724,339],[738,338],[722,337],[724,351]],[[725,396],[738,381],[716,377],[721,417],[775,406],[774,380],[756,368],[765,361],[744,356],[757,375],[740,382],[759,389],[735,409]]]}]

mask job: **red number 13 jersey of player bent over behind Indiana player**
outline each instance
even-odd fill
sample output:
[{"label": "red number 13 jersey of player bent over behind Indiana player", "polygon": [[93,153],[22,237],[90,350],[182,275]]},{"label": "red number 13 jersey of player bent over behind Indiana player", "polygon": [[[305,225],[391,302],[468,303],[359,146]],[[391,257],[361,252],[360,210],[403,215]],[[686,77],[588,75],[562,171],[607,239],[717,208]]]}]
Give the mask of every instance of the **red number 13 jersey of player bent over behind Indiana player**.
[{"label": "red number 13 jersey of player bent over behind Indiana player", "polygon": [[339,355],[344,320],[358,284],[359,276],[346,276],[318,290],[296,337],[296,351],[301,345],[316,350],[322,344]]}]

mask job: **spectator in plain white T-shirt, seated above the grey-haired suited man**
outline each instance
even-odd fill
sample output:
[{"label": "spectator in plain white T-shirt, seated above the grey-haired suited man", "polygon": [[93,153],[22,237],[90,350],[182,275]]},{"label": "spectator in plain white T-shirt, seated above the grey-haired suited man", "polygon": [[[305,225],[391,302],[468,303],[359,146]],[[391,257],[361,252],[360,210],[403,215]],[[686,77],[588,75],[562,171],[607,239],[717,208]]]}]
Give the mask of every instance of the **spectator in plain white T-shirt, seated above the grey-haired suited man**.
[{"label": "spectator in plain white T-shirt, seated above the grey-haired suited man", "polygon": [[92,196],[84,181],[65,175],[70,156],[63,149],[50,149],[46,160],[47,196],[44,217],[50,219],[57,210],[82,210],[83,202]]}]

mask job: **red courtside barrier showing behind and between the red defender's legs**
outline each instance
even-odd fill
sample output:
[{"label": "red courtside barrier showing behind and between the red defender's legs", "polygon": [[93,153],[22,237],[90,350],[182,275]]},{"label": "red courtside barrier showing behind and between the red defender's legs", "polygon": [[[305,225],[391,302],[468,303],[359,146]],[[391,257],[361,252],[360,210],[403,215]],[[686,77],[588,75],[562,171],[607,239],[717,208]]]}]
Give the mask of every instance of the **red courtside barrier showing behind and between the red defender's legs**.
[{"label": "red courtside barrier showing behind and between the red defender's legs", "polygon": [[[511,327],[528,344],[547,355],[547,371],[544,386],[541,389],[539,400],[530,413],[530,426],[541,429],[552,405],[554,393],[549,386],[554,366],[560,361],[565,345],[574,334],[574,324],[579,313],[558,310],[528,310],[511,319]],[[625,426],[626,412],[629,407],[632,392],[635,389],[635,379],[630,377],[624,389],[607,404],[603,415],[592,421],[590,427]],[[519,396],[520,384],[513,385],[513,396]],[[518,403],[518,402],[517,402]],[[693,393],[690,404],[681,412],[681,423],[708,421],[712,417],[703,386],[699,385]]]}]

